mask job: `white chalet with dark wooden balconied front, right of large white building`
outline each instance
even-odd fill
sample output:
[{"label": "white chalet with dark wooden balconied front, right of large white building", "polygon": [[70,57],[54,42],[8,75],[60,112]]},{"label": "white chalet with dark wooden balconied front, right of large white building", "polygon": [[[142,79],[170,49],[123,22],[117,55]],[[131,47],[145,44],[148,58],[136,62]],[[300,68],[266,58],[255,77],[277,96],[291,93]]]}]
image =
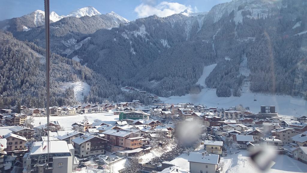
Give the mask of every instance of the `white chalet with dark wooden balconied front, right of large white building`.
[{"label": "white chalet with dark wooden balconied front, right of large white building", "polygon": [[105,154],[104,150],[107,148],[107,144],[108,140],[88,134],[72,139],[75,155],[80,158]]}]

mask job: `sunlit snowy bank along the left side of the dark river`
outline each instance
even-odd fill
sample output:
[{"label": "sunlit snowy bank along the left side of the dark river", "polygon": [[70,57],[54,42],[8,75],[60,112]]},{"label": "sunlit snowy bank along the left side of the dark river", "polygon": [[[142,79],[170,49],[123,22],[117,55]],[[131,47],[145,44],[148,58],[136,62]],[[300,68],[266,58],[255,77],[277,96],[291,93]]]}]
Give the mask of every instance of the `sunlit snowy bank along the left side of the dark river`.
[{"label": "sunlit snowy bank along the left side of the dark river", "polygon": [[169,143],[165,147],[159,147],[159,148],[153,149],[153,150],[150,151],[150,153],[147,153],[145,155],[140,156],[142,158],[142,162],[141,163],[142,164],[143,163],[147,163],[151,159],[153,159],[155,157],[161,156],[163,153],[172,151],[174,147],[175,147],[175,144]]}]

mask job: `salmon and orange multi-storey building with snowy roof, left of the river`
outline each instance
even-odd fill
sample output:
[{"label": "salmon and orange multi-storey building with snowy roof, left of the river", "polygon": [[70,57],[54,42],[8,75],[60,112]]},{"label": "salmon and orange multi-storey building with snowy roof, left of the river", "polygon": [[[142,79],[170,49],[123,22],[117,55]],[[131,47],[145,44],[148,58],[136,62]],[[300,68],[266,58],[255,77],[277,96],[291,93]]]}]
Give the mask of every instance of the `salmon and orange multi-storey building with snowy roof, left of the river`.
[{"label": "salmon and orange multi-storey building with snowy roof, left of the river", "polygon": [[122,151],[140,148],[143,146],[144,137],[139,137],[139,134],[124,130],[108,130],[102,132],[104,139],[109,140],[109,150]]}]

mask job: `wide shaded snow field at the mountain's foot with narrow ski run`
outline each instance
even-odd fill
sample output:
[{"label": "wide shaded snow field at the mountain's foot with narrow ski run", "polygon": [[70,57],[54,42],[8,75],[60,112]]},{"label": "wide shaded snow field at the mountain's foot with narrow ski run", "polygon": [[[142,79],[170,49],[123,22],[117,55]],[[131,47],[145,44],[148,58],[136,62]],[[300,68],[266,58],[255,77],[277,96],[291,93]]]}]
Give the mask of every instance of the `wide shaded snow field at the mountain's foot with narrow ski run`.
[{"label": "wide shaded snow field at the mountain's foot with narrow ski run", "polygon": [[[241,97],[217,97],[216,89],[206,88],[205,79],[211,73],[216,65],[204,67],[203,75],[197,83],[204,86],[198,94],[186,94],[183,96],[171,96],[169,98],[159,97],[165,103],[194,103],[207,106],[217,106],[219,108],[229,108],[243,104],[244,107],[250,107],[253,113],[260,111],[260,106],[275,106],[276,111],[281,115],[303,115],[307,111],[307,104],[303,98],[294,98],[289,95],[265,95],[255,94],[249,91],[243,91]],[[257,101],[254,101],[254,98]]]}]

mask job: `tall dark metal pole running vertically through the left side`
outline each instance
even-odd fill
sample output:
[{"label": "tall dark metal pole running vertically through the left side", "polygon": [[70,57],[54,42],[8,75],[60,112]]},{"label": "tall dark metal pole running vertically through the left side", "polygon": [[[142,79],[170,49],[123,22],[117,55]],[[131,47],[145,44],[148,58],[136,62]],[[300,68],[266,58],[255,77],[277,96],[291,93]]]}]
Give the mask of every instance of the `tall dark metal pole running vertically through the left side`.
[{"label": "tall dark metal pole running vertically through the left side", "polygon": [[46,31],[46,91],[47,91],[47,164],[49,164],[49,62],[50,62],[50,50],[49,50],[49,0],[45,0],[45,31]]}]

